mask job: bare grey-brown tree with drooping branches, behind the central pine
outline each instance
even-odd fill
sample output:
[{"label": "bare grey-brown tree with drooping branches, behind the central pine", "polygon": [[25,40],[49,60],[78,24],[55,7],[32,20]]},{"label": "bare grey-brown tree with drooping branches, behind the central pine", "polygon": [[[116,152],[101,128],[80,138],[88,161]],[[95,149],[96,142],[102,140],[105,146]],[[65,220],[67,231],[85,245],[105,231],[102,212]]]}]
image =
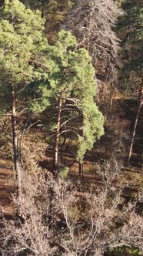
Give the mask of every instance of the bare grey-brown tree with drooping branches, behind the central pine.
[{"label": "bare grey-brown tree with drooping branches, behind the central pine", "polygon": [[111,91],[115,83],[119,49],[115,24],[120,15],[122,11],[113,0],[77,1],[64,25],[76,36],[78,46],[88,49],[97,79],[109,83]]}]

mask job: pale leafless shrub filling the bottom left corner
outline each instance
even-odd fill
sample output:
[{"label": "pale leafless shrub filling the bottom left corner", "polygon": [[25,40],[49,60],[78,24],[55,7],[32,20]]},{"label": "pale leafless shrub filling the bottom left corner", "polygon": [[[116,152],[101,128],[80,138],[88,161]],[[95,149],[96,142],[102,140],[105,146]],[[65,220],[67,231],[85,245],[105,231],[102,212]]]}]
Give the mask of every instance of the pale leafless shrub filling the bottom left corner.
[{"label": "pale leafless shrub filling the bottom left corner", "polygon": [[54,255],[55,248],[49,244],[54,237],[48,226],[43,224],[42,207],[35,204],[32,197],[21,197],[15,206],[19,208],[20,218],[17,225],[5,221],[2,255]]}]

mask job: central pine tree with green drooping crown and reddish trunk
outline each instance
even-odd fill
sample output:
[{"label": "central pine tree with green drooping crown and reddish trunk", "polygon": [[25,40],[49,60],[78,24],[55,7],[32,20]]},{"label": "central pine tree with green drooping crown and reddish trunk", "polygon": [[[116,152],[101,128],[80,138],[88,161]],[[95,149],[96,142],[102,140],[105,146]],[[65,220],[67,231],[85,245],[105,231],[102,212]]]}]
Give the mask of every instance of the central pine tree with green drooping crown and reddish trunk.
[{"label": "central pine tree with green drooping crown and reddish trunk", "polygon": [[[82,163],[87,149],[103,134],[103,116],[94,102],[95,69],[86,49],[76,49],[76,39],[70,32],[61,31],[55,45],[48,45],[47,58],[51,66],[48,83],[38,86],[42,99],[32,104],[33,109],[49,105],[55,99],[57,120],[55,129],[54,171],[58,167],[60,134],[78,136],[77,160]],[[38,95],[39,96],[39,95]],[[47,103],[46,103],[47,100]],[[66,113],[66,115],[65,115]],[[63,119],[62,117],[66,117]]]}]

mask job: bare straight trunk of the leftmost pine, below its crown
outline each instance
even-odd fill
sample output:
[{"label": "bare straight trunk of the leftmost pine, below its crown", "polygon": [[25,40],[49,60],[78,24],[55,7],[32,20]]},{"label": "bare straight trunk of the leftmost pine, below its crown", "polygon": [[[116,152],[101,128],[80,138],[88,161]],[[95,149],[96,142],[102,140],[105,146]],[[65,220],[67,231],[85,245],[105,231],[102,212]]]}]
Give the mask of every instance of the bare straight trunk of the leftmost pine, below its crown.
[{"label": "bare straight trunk of the leftmost pine, below its crown", "polygon": [[12,87],[12,146],[13,146],[13,164],[15,172],[15,194],[19,196],[21,191],[21,172],[18,163],[18,138],[17,138],[17,115],[15,89]]}]

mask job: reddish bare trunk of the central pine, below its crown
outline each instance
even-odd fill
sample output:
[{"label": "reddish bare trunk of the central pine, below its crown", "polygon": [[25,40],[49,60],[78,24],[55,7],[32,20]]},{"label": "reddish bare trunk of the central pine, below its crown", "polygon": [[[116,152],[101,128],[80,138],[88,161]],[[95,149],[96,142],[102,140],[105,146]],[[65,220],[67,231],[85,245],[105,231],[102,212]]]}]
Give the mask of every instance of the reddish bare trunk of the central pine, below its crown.
[{"label": "reddish bare trunk of the central pine, below its crown", "polygon": [[53,162],[53,173],[56,175],[58,170],[58,143],[59,133],[61,124],[61,113],[62,113],[62,96],[58,99],[58,115],[57,115],[57,128],[55,130],[55,148],[54,148],[54,162]]}]

